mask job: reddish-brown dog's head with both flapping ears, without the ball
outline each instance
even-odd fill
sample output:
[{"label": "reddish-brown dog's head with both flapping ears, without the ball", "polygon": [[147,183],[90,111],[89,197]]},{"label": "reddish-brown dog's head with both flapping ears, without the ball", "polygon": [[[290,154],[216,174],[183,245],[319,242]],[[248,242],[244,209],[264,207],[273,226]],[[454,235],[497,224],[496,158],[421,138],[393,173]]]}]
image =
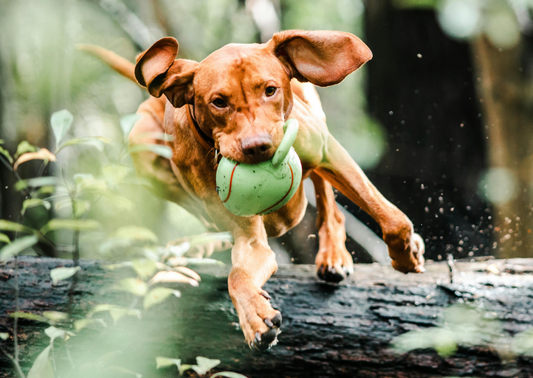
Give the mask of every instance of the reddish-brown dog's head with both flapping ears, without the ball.
[{"label": "reddish-brown dog's head with both flapping ears, without the ball", "polygon": [[137,59],[135,77],[152,96],[192,105],[221,154],[243,163],[270,159],[292,109],[290,80],[328,86],[372,58],[356,36],[332,31],[278,33],[266,44],[230,44],[200,63],[175,59],[166,37]]}]

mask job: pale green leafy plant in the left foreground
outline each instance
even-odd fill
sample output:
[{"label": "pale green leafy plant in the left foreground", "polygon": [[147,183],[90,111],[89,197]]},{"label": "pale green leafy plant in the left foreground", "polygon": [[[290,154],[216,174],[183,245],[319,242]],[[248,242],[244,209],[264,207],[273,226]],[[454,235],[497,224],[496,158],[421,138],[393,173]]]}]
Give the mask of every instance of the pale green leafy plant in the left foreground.
[{"label": "pale green leafy plant in the left foreground", "polygon": [[[54,345],[61,340],[67,353],[70,363],[70,370],[67,376],[76,375],[76,371],[83,369],[84,364],[75,361],[69,352],[70,340],[79,333],[91,328],[93,332],[107,330],[116,325],[124,317],[135,317],[142,319],[144,311],[163,303],[170,298],[179,298],[180,291],[161,285],[165,284],[186,284],[198,286],[201,281],[200,276],[186,267],[189,264],[221,264],[213,259],[191,258],[187,252],[191,248],[202,246],[215,241],[231,241],[228,233],[203,234],[188,238],[187,241],[178,245],[168,245],[162,247],[159,244],[157,235],[148,228],[137,225],[125,225],[117,228],[104,228],[101,222],[91,219],[91,210],[101,201],[107,201],[106,206],[122,209],[131,212],[134,204],[121,193],[124,185],[148,184],[133,176],[133,169],[125,164],[128,152],[151,151],[163,157],[170,157],[171,151],[166,146],[161,145],[128,145],[128,135],[137,121],[138,116],[128,115],[121,119],[120,125],[123,137],[118,143],[112,143],[106,138],[99,136],[68,138],[74,117],[66,110],[54,113],[51,117],[51,127],[56,140],[53,152],[44,148],[32,146],[28,142],[21,142],[13,158],[9,151],[0,149],[0,160],[9,167],[17,180],[16,189],[24,196],[24,202],[20,210],[19,222],[0,220],[0,230],[15,233],[14,240],[6,234],[0,234],[0,242],[5,243],[0,249],[0,261],[14,259],[15,264],[15,285],[16,285],[16,308],[10,314],[14,319],[13,340],[14,354],[8,354],[3,348],[0,350],[12,361],[20,378],[52,378],[57,374],[62,374],[58,370],[55,361],[56,352]],[[169,140],[167,135],[154,136],[157,139]],[[44,167],[50,162],[56,162],[56,155],[66,148],[89,145],[105,152],[106,146],[115,151],[115,158],[108,157],[109,162],[101,167],[100,174],[80,173],[67,175],[64,170],[60,175],[42,177]],[[38,177],[22,179],[17,169],[21,164],[33,160],[41,160],[41,168]],[[67,215],[62,218],[49,219],[39,229],[26,226],[22,221],[26,214],[37,208],[45,210],[56,210],[58,213]],[[70,215],[70,216],[68,216]],[[71,239],[58,237],[62,233],[72,235]],[[101,303],[89,309],[85,316],[76,319],[72,316],[74,306],[74,291],[79,280],[79,275],[83,269],[79,264],[80,258],[80,238],[82,234],[105,235],[100,238],[100,247],[96,248],[103,256],[108,251],[115,251],[120,248],[127,248],[129,258],[114,264],[104,266],[108,270],[123,269],[130,271],[131,276],[123,278],[109,287],[108,291],[122,293],[125,297],[131,297],[130,305],[120,306],[116,303]],[[94,238],[92,236],[91,238]],[[20,311],[18,298],[18,260],[21,253],[39,253],[40,243],[52,247],[60,253],[71,255],[72,266],[58,267],[50,271],[50,278],[53,285],[60,281],[70,281],[68,312],[45,311],[41,315]],[[31,251],[31,252],[30,252]],[[106,317],[111,318],[113,325],[108,324]],[[49,327],[44,330],[49,338],[49,344],[40,352],[35,359],[27,375],[24,374],[19,364],[19,347],[17,339],[18,319],[26,319],[41,323],[48,323]],[[9,340],[8,333],[1,333],[0,339],[4,342]],[[119,351],[117,351],[119,352]],[[114,371],[134,376],[140,376],[126,367],[111,365],[112,357],[96,361],[95,364],[101,371]],[[220,363],[220,360],[212,360],[205,357],[198,357],[195,365],[181,365],[178,359],[158,358],[157,368],[174,364],[180,373],[187,369],[192,369],[198,374],[206,374],[213,367]],[[215,376],[243,377],[236,373],[223,372]]]}]

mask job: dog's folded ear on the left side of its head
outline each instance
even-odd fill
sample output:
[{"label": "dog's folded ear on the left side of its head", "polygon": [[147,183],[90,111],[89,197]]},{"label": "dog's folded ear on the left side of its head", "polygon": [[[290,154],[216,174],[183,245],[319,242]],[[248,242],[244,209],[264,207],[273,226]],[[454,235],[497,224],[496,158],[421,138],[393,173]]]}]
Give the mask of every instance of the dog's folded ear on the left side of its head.
[{"label": "dog's folded ear on the left side of its head", "polygon": [[192,81],[197,62],[176,59],[178,41],[161,38],[137,57],[135,78],[154,97],[167,96],[176,108],[191,103],[194,97]]}]

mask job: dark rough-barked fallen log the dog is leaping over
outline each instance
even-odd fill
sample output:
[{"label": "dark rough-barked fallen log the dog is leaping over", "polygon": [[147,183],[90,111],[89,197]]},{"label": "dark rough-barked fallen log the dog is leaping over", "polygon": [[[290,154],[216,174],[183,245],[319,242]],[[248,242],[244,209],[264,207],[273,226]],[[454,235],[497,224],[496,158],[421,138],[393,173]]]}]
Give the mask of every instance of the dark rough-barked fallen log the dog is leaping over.
[{"label": "dark rough-barked fallen log the dog is leaping over", "polygon": [[[101,262],[81,261],[73,316],[81,318],[99,303],[139,307],[132,297],[106,290],[131,272],[108,271]],[[26,312],[66,311],[69,282],[52,285],[50,270],[71,266],[69,260],[19,260],[20,303]],[[14,265],[0,265],[0,332],[11,334],[14,306]],[[227,293],[228,267],[199,267],[199,287],[176,286],[171,298],[145,310],[142,319],[125,316],[116,325],[106,319],[69,340],[71,359],[88,366],[111,358],[143,377],[175,377],[176,368],[156,370],[155,357],[194,363],[196,356],[221,360],[214,371],[235,371],[262,377],[533,377],[533,360],[505,360],[487,346],[460,347],[449,357],[432,349],[403,355],[391,340],[407,331],[439,324],[439,314],[454,303],[471,302],[490,311],[509,337],[533,325],[533,259],[428,263],[425,274],[404,275],[377,264],[356,265],[355,274],[339,285],[321,283],[314,266],[281,266],[265,289],[283,314],[277,346],[264,354],[245,345]],[[453,277],[451,277],[453,275]],[[450,282],[452,279],[452,283]],[[21,365],[26,371],[48,343],[47,324],[19,320]],[[59,327],[59,325],[58,325]],[[55,342],[56,368],[69,376],[64,343]],[[0,341],[12,352],[12,339]],[[118,352],[117,352],[118,351]],[[82,362],[78,362],[82,361]],[[91,362],[92,361],[92,362]],[[62,367],[65,366],[65,367]],[[92,365],[91,365],[92,366]],[[62,370],[63,369],[63,370]],[[118,370],[110,376],[121,377]],[[192,371],[185,376],[197,376]],[[0,376],[14,376],[0,356]],[[59,376],[59,374],[57,375]],[[77,375],[80,376],[80,375]],[[125,377],[127,375],[124,375]],[[209,375],[206,375],[209,376]]]}]

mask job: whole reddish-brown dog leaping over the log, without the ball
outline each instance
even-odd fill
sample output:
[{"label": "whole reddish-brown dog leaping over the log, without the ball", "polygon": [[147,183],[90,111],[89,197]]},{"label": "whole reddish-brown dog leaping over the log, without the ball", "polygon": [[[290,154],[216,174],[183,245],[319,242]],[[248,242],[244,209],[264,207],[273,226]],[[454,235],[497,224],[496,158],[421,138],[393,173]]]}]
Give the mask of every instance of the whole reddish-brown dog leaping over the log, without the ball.
[{"label": "whole reddish-brown dog leaping over the log, without the ball", "polygon": [[307,200],[300,185],[274,213],[249,218],[233,215],[215,190],[215,149],[243,163],[270,159],[283,137],[283,123],[289,116],[296,118],[300,131],[294,148],[302,161],[303,178],[310,177],[316,191],[319,276],[338,282],[353,272],[344,244],[344,217],[335,204],[332,185],[379,223],[395,269],[423,271],[422,239],[329,134],[312,85],[337,84],[372,58],[356,36],[289,30],[266,44],[224,46],[200,63],[176,59],[178,42],[163,38],[138,57],[135,68],[113,53],[91,50],[153,96],[139,107],[141,118],[130,141],[164,143],[147,138],[147,132],[174,137],[167,142],[173,151],[171,160],[151,152],[135,154],[138,173],[153,182],[159,195],[207,224],[233,233],[229,294],[252,349],[263,351],[274,344],[281,325],[281,314],[262,289],[277,269],[267,237],[296,226]]}]

